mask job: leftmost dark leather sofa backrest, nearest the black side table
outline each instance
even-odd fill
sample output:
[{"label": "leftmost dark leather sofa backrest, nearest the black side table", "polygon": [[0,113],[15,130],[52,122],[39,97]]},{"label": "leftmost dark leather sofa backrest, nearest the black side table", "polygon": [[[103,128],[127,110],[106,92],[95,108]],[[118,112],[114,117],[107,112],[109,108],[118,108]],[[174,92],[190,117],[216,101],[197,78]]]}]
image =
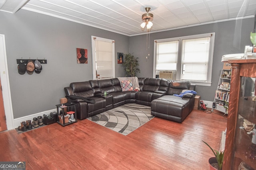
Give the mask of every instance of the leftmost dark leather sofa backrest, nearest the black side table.
[{"label": "leftmost dark leather sofa backrest, nearest the black side table", "polygon": [[74,95],[82,96],[85,98],[93,97],[94,91],[90,82],[73,82],[70,83],[70,87],[73,89]]}]

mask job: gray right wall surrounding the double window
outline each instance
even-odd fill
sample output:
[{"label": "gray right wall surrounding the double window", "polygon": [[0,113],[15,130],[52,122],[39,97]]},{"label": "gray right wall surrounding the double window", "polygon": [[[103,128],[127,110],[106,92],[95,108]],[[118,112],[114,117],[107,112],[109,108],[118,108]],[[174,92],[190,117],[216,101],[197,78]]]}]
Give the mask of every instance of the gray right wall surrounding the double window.
[{"label": "gray right wall surrounding the double window", "polygon": [[201,100],[213,101],[220,78],[220,72],[223,67],[223,63],[221,62],[222,55],[244,53],[245,45],[252,46],[250,32],[253,31],[253,29],[254,18],[248,18],[150,33],[150,57],[148,59],[146,59],[146,35],[138,35],[130,37],[130,53],[133,53],[140,61],[140,73],[138,73],[137,76],[152,77],[155,39],[215,32],[212,85],[210,87],[196,86],[196,92],[201,96]]}]

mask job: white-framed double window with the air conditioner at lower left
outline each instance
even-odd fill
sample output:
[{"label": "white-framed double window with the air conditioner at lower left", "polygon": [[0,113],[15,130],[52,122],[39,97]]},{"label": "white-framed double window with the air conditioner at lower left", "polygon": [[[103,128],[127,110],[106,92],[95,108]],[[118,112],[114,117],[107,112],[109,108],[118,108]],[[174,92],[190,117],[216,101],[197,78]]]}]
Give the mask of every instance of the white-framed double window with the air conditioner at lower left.
[{"label": "white-framed double window with the air conditioner at lower left", "polygon": [[153,77],[168,72],[176,75],[172,80],[210,86],[214,37],[215,33],[206,33],[155,40]]}]

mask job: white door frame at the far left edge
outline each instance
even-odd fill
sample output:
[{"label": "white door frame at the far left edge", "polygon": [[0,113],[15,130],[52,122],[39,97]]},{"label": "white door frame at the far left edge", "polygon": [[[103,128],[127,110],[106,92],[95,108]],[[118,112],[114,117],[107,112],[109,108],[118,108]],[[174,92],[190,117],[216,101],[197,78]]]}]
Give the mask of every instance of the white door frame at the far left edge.
[{"label": "white door frame at the far left edge", "polygon": [[5,37],[0,34],[0,77],[2,83],[2,95],[4,100],[4,112],[6,116],[7,130],[14,129],[14,116],[12,110],[12,98],[10,91],[10,81],[7,66]]}]

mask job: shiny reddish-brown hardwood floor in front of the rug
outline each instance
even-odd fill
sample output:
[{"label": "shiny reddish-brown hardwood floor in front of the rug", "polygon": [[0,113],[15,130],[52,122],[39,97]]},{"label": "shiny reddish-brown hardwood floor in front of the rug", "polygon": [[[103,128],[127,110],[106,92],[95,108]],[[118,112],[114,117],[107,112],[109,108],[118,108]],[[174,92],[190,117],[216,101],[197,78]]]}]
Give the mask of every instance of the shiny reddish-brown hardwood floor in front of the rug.
[{"label": "shiny reddish-brown hardwood floor in front of the rug", "polygon": [[127,136],[84,119],[18,134],[0,133],[0,161],[25,161],[26,170],[207,170],[219,150],[227,117],[193,110],[182,122],[154,117]]}]

